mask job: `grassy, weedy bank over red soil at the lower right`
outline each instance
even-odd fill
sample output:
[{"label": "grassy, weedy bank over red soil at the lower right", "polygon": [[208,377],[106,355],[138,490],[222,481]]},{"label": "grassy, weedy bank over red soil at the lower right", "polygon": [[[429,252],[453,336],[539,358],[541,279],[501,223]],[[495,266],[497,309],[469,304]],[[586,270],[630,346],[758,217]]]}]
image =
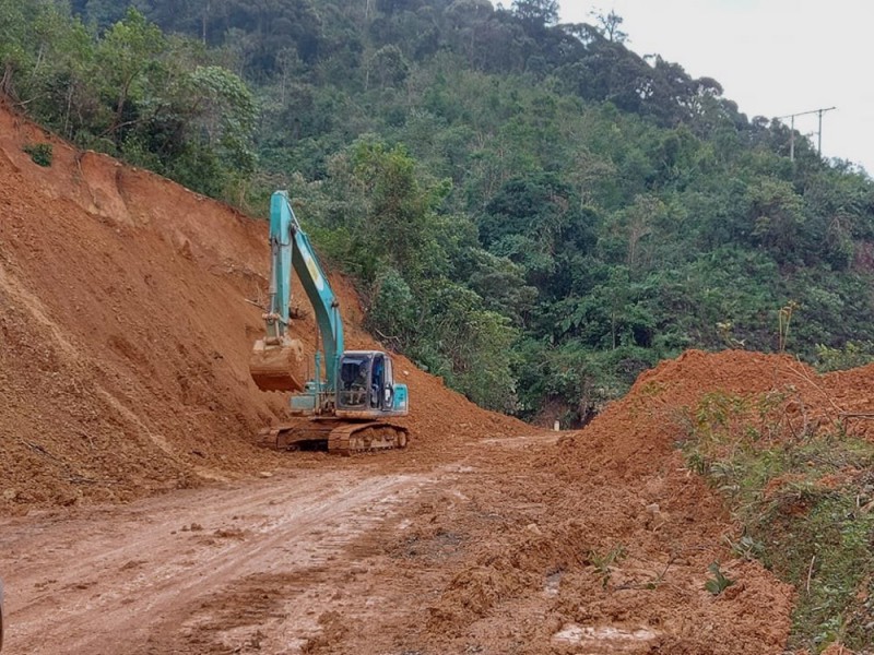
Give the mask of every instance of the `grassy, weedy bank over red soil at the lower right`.
[{"label": "grassy, weedy bank over red soil at the lower right", "polygon": [[815,428],[792,390],[711,393],[684,416],[689,468],[722,492],[757,558],[795,585],[789,646],[857,652],[874,631],[874,444]]}]

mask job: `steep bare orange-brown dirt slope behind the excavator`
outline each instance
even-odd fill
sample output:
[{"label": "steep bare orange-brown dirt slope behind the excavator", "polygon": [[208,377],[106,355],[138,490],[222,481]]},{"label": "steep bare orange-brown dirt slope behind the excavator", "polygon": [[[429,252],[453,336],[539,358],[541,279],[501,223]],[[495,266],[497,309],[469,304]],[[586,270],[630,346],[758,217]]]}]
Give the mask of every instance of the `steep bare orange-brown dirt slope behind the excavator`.
[{"label": "steep bare orange-brown dirt slope behind the excavator", "polygon": [[[51,142],[49,168],[23,152]],[[0,511],[127,500],[295,461],[253,446],[285,401],[248,376],[267,224],[0,108]],[[370,345],[344,300],[352,345]],[[299,335],[311,343],[312,325]],[[420,453],[501,425],[402,360]],[[451,408],[457,425],[442,418]],[[464,426],[463,424],[469,424]]]}]

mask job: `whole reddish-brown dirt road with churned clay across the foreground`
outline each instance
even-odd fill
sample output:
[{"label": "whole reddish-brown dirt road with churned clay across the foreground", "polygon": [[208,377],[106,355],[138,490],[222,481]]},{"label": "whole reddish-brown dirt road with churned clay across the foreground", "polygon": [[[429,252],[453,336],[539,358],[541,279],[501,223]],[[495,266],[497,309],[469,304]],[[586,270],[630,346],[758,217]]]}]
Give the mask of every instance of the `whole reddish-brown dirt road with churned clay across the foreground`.
[{"label": "whole reddish-brown dirt road with churned clay across the foreground", "polygon": [[[427,465],[290,454],[261,479],[3,520],[9,652],[781,653],[791,590],[724,559],[706,487],[670,458],[623,479],[597,450],[569,480],[546,464],[576,439]],[[737,584],[714,598],[719,558]]]}]

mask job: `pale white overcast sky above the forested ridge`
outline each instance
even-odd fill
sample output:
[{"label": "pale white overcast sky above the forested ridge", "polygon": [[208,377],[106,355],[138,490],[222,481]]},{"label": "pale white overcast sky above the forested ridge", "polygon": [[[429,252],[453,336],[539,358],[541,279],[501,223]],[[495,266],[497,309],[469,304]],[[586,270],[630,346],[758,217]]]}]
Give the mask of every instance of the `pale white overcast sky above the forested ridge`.
[{"label": "pale white overcast sky above the forested ridge", "polygon": [[[562,22],[623,17],[626,47],[661,55],[723,87],[747,118],[836,107],[823,115],[823,155],[874,175],[874,2],[867,0],[559,0]],[[509,2],[507,2],[509,5]],[[786,119],[789,124],[789,119]],[[816,146],[816,115],[795,129]]]}]

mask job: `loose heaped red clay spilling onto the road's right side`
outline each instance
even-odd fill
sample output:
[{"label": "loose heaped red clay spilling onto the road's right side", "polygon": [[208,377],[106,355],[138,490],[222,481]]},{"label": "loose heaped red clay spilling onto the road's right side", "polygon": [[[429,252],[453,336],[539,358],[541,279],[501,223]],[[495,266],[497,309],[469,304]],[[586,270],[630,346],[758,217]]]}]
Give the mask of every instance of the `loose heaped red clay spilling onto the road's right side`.
[{"label": "loose heaped red clay spilling onto the road's right side", "polygon": [[[874,410],[872,385],[874,367],[819,377],[788,356],[665,361],[554,446],[471,454],[374,574],[402,568],[432,590],[420,609],[402,630],[354,623],[312,652],[783,653],[793,588],[732,552],[740,526],[685,467],[680,418],[708,392],[777,391],[794,428],[834,427]],[[735,581],[718,596],[705,590],[712,562]]]}]

